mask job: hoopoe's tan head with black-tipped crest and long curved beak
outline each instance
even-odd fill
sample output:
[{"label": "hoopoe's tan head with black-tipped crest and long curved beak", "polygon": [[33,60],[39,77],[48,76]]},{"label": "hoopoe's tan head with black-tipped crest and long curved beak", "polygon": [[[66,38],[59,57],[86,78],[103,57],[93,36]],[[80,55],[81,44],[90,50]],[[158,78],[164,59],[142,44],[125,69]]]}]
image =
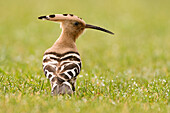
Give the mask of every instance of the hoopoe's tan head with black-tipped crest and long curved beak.
[{"label": "hoopoe's tan head with black-tipped crest and long curved beak", "polygon": [[48,16],[40,16],[38,17],[38,19],[60,22],[63,32],[74,37],[78,37],[86,28],[96,29],[109,34],[114,34],[104,28],[86,24],[85,21],[82,20],[82,18],[79,18],[73,14],[53,14]]}]

